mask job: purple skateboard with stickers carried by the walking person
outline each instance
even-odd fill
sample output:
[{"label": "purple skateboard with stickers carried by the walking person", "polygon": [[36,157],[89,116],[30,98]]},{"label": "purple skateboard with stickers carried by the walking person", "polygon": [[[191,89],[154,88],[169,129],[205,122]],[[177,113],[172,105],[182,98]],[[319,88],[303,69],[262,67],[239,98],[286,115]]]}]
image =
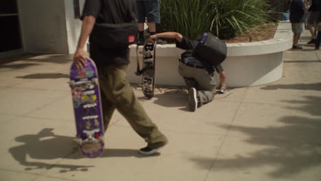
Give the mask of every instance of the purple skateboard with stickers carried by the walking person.
[{"label": "purple skateboard with stickers carried by the walking person", "polygon": [[71,65],[69,86],[77,129],[75,142],[84,156],[96,158],[104,153],[104,122],[97,68],[93,60],[86,60],[82,70]]}]

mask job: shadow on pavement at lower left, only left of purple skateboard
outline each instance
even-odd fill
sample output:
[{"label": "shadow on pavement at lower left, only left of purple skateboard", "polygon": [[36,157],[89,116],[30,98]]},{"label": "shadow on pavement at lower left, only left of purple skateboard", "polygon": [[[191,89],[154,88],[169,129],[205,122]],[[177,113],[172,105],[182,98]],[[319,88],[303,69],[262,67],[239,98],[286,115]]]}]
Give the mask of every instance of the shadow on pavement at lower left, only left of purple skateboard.
[{"label": "shadow on pavement at lower left, only left of purple skateboard", "polygon": [[39,160],[66,158],[69,154],[76,151],[71,137],[56,135],[52,131],[52,128],[45,128],[38,132],[38,134],[26,134],[16,137],[15,140],[17,142],[24,144],[11,147],[9,149],[10,154],[12,154],[12,157],[21,165],[26,166],[25,170],[27,171],[32,169],[51,169],[54,167],[62,169],[60,172],[87,171],[88,167],[93,167],[83,165],[55,165],[53,163],[28,161],[28,157]]}]

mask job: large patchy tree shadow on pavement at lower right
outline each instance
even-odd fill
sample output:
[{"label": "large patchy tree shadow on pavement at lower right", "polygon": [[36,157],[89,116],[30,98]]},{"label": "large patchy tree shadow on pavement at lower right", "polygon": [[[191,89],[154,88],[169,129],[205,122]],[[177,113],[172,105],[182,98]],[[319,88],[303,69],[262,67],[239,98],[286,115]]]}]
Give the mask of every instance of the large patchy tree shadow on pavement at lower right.
[{"label": "large patchy tree shadow on pavement at lower right", "polygon": [[[249,150],[244,146],[244,150],[237,150],[238,146],[233,146],[233,142],[228,144],[225,141],[226,144],[222,145],[223,150],[219,155],[223,154],[228,158],[193,157],[190,160],[202,169],[207,170],[211,165],[211,171],[244,171],[243,174],[253,174],[250,170],[257,167],[272,167],[273,170],[268,174],[274,178],[288,178],[299,175],[302,171],[321,167],[321,113],[309,110],[312,101],[314,104],[320,103],[321,97],[307,97],[307,101],[300,102],[304,104],[298,110],[308,112],[314,117],[281,117],[279,119],[281,126],[255,128],[221,125],[226,130],[246,134],[244,144],[254,145],[259,149]],[[320,110],[320,104],[314,110]],[[235,149],[235,152],[229,152],[230,155],[224,153],[227,149]]]}]

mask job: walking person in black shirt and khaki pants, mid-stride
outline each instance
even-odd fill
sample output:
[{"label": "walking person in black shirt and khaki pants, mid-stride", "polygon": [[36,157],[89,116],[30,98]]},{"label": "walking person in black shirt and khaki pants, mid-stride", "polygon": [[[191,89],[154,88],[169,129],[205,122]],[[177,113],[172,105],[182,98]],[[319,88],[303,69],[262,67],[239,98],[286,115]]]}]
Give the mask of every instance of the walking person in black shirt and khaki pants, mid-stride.
[{"label": "walking person in black shirt and khaki pants, mid-stride", "polygon": [[99,75],[105,132],[113,112],[117,109],[135,132],[147,142],[147,146],[139,149],[139,152],[153,154],[167,144],[167,138],[152,123],[126,80],[128,46],[104,47],[102,45],[106,42],[97,43],[97,39],[93,37],[93,32],[97,30],[95,23],[128,23],[132,21],[131,16],[136,16],[134,0],[86,0],[81,18],[82,30],[73,61],[78,69],[86,65],[84,45],[89,37],[90,56],[97,65]]}]

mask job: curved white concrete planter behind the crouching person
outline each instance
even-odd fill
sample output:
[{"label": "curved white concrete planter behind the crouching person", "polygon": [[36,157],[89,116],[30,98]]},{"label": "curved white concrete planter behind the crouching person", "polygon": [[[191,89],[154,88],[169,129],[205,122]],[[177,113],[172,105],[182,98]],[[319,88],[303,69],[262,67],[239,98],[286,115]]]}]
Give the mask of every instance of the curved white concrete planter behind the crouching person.
[{"label": "curved white concrete planter behind the crouching person", "polygon": [[[226,71],[228,87],[257,86],[275,82],[283,75],[283,52],[292,48],[291,24],[281,21],[273,39],[253,43],[233,43],[227,46],[228,57],[222,66]],[[185,86],[177,70],[178,57],[182,52],[184,51],[175,45],[157,45],[156,84]],[[141,55],[139,60],[141,65]],[[134,74],[136,45],[130,46],[130,61],[128,80],[131,83],[141,83],[141,77]],[[215,80],[219,83],[217,73]]]}]

